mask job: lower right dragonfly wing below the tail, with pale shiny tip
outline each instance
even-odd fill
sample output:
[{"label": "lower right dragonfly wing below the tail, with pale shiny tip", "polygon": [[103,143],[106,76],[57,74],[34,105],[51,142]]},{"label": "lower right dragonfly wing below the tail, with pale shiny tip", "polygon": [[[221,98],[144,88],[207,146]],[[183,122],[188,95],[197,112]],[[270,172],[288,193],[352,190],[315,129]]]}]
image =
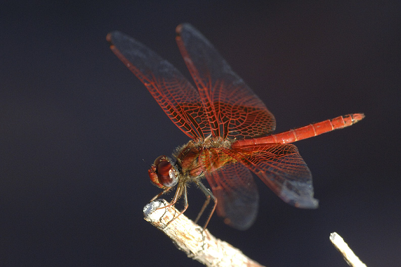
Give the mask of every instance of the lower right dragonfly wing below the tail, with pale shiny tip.
[{"label": "lower right dragonfly wing below the tail, with pale shiny tip", "polygon": [[297,208],[316,209],[312,174],[292,145],[243,146],[232,156],[256,173],[284,202]]}]

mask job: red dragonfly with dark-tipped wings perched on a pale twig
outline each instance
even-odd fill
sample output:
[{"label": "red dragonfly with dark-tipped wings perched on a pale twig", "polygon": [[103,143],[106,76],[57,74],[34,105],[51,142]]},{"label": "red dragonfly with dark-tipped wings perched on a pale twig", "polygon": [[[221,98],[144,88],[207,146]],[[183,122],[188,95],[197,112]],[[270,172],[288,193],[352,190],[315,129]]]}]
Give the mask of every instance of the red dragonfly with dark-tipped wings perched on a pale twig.
[{"label": "red dragonfly with dark-tipped wings perched on a pale twig", "polygon": [[[183,196],[182,214],[188,207],[187,183],[193,182],[207,196],[198,218],[212,199],[214,207],[206,225],[216,209],[226,224],[245,230],[254,223],[259,205],[253,172],[284,202],[297,208],[317,208],[311,171],[290,143],[347,127],[364,114],[268,135],[276,127],[273,114],[209,40],[189,24],[179,25],[176,32],[197,90],[145,45],[118,31],[107,35],[112,51],[192,139],[173,153],[173,159],[160,156],[149,169],[152,182],[163,189],[152,201],[177,185],[170,205]],[[213,193],[202,184],[204,177]]]}]

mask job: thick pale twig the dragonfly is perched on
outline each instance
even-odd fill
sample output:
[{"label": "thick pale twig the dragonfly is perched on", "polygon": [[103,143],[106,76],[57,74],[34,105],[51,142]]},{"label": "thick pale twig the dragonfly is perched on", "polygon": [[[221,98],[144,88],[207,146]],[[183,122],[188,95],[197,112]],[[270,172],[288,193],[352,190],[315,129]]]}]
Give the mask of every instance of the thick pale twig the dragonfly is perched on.
[{"label": "thick pale twig the dragonfly is perched on", "polygon": [[[239,249],[225,241],[217,239],[210,232],[194,224],[180,212],[168,205],[164,199],[158,199],[143,208],[145,220],[163,231],[173,243],[188,257],[206,266],[248,266],[263,267],[263,265],[245,256]],[[162,208],[162,209],[159,209]]]}]

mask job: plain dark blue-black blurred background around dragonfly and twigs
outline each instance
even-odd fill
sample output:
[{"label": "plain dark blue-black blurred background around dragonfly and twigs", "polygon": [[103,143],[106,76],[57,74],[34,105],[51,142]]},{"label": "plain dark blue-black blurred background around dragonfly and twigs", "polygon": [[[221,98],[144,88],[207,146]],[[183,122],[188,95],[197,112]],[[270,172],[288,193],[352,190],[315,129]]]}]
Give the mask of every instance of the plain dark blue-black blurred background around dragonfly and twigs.
[{"label": "plain dark blue-black blurred background around dragonfly and twigs", "polygon": [[[329,241],[336,231],[368,266],[400,265],[401,8],[326,2],[2,4],[0,265],[201,265],[142,215],[160,191],[148,163],[188,139],[106,42],[123,31],[189,77],[174,40],[182,22],[260,96],[277,132],[366,114],[296,143],[318,210],[290,207],[257,180],[255,225],[241,232],[214,216],[212,234],[267,266],[347,266]],[[186,214],[203,201],[190,188]]]}]

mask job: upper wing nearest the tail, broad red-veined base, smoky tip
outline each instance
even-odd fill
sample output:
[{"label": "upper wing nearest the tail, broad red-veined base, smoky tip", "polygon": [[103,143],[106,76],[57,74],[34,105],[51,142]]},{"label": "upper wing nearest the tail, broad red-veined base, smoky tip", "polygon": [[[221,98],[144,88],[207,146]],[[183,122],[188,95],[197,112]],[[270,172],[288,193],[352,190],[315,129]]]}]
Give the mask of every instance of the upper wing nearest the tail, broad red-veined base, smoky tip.
[{"label": "upper wing nearest the tail, broad red-veined base, smoky tip", "polygon": [[189,24],[179,25],[176,31],[178,47],[201,95],[212,135],[244,139],[273,131],[273,114],[214,46]]}]

